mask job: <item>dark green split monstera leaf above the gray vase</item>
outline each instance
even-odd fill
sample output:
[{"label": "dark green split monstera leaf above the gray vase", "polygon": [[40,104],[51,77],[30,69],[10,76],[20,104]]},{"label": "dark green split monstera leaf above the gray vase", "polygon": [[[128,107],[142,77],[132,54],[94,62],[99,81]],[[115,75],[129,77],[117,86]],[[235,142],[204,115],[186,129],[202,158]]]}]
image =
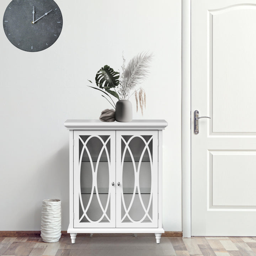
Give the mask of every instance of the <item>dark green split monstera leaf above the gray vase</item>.
[{"label": "dark green split monstera leaf above the gray vase", "polygon": [[[95,76],[96,85],[106,91],[119,85],[119,72],[105,65]],[[116,96],[115,96],[116,97]]]}]

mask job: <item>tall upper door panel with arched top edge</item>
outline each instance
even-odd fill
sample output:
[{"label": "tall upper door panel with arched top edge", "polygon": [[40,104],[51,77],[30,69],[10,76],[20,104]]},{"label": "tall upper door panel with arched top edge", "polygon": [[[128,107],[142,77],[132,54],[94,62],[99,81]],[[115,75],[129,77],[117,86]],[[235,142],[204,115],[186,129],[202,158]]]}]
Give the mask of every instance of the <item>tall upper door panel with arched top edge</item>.
[{"label": "tall upper door panel with arched top edge", "polygon": [[[256,22],[255,14],[255,4],[232,5],[208,11],[208,111],[213,117],[209,131],[212,135],[255,133],[256,121],[252,117],[256,107],[256,89],[251,85],[256,75],[252,75],[253,65],[248,65],[251,59],[256,58],[256,32],[251,26]],[[241,47],[243,44],[244,47]],[[241,90],[248,102],[246,111],[238,104]],[[228,101],[225,100],[227,95]],[[224,109],[233,109],[233,114],[222,111]],[[236,121],[237,117],[239,122]]]}]

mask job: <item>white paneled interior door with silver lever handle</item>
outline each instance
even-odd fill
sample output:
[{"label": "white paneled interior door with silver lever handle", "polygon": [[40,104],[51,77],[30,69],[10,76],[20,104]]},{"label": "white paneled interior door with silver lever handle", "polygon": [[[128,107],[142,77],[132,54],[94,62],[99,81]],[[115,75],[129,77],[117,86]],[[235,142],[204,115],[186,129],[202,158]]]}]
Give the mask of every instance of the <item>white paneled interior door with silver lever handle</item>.
[{"label": "white paneled interior door with silver lever handle", "polygon": [[256,236],[256,1],[191,9],[191,233]]}]

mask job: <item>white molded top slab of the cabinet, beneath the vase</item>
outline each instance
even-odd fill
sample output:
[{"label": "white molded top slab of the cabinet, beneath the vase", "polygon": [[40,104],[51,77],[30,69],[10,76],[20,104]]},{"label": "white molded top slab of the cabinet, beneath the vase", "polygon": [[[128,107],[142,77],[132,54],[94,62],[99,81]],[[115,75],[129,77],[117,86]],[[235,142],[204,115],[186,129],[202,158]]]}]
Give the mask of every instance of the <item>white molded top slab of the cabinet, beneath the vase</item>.
[{"label": "white molded top slab of the cabinet, beneath the vase", "polygon": [[165,120],[133,120],[131,122],[102,122],[100,120],[66,120],[68,130],[164,130]]}]

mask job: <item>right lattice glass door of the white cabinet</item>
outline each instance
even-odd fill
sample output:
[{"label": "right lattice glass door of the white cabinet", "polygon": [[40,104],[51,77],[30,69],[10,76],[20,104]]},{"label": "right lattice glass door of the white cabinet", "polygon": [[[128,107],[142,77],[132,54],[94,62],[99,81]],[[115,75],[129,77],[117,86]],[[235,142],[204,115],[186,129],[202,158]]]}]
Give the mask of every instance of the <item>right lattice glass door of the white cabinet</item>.
[{"label": "right lattice glass door of the white cabinet", "polygon": [[158,131],[117,131],[116,145],[116,227],[157,228]]}]

